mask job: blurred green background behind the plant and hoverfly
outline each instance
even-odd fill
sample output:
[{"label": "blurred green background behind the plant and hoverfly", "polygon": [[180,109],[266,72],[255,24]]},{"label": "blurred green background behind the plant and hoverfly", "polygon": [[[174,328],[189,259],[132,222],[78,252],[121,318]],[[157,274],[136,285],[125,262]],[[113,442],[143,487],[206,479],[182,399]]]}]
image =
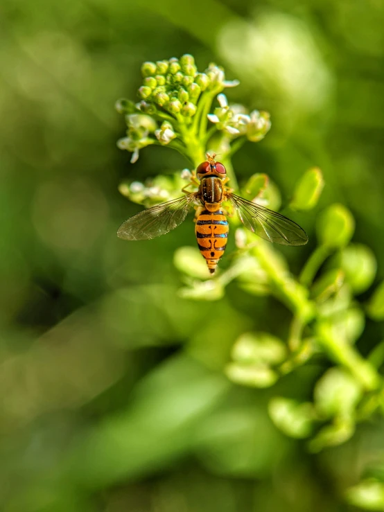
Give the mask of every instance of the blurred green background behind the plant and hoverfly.
[{"label": "blurred green background behind the plant and hoverfly", "polygon": [[[347,204],[354,240],[384,276],[384,3],[369,0],[2,0],[0,5],[0,509],[6,512],[347,511],[345,489],[384,450],[369,423],[309,455],[277,431],[268,398],[311,396],[326,363],[266,391],[222,367],[238,335],[282,337],[290,315],[233,284],[218,302],[177,298],[173,253],[193,225],[152,242],[116,229],[139,211],[121,179],[189,165],[167,148],[137,164],[116,148],[114,102],[135,99],[145,60],[192,53],[266,109],[272,130],[234,158],[283,195],[309,166],[317,212]],[[312,240],[311,240],[312,238]],[[367,324],[365,354],[383,336]]]}]

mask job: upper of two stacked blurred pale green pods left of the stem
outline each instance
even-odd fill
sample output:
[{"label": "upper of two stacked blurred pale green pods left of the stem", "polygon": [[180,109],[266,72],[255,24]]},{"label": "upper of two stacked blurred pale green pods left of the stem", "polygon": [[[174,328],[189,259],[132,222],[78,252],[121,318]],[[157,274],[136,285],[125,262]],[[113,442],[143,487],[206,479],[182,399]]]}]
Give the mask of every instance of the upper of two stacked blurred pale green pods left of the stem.
[{"label": "upper of two stacked blurred pale green pods left of the stem", "polygon": [[279,364],[286,358],[286,346],[269,333],[245,333],[232,349],[232,358],[242,364]]}]

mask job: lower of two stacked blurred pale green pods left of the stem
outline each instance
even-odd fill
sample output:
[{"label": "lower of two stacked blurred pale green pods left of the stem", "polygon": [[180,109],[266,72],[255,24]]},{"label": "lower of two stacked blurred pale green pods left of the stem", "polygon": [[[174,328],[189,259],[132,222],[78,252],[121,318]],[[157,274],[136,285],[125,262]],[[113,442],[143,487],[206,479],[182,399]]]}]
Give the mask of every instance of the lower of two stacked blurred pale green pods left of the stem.
[{"label": "lower of two stacked blurred pale green pods left of the stem", "polygon": [[225,373],[232,382],[251,387],[270,387],[279,378],[275,371],[263,364],[232,362],[227,364]]}]

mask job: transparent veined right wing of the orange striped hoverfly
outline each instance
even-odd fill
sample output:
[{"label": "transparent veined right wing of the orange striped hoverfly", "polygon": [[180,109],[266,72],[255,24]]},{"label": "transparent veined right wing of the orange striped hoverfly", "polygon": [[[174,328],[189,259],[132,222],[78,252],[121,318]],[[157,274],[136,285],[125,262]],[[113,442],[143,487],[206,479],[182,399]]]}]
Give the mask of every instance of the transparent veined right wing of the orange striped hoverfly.
[{"label": "transparent veined right wing of the orange striped hoverfly", "polygon": [[281,213],[268,210],[235,194],[230,194],[229,199],[245,227],[268,242],[281,245],[304,245],[308,242],[304,229]]}]

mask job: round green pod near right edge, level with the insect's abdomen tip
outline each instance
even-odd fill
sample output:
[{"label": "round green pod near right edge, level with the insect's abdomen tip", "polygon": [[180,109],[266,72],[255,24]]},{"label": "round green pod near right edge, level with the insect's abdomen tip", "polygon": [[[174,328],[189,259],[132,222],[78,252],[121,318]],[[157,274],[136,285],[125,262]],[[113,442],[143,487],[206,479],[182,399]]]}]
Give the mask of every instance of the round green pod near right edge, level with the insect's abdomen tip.
[{"label": "round green pod near right edge, level with the insect's abdomen tip", "polygon": [[344,270],[345,280],[355,293],[365,292],[372,285],[377,269],[374,253],[363,244],[344,247],[335,255],[332,265]]}]

